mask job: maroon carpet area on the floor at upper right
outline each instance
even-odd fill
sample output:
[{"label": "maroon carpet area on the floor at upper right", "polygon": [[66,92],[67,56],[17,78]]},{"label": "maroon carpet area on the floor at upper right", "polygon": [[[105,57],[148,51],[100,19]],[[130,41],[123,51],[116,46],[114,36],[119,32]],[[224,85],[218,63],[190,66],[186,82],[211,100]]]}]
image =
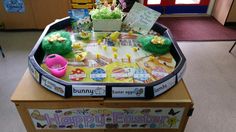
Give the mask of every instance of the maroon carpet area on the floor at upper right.
[{"label": "maroon carpet area on the floor at upper right", "polygon": [[221,25],[213,17],[161,17],[177,41],[235,41],[236,29]]}]

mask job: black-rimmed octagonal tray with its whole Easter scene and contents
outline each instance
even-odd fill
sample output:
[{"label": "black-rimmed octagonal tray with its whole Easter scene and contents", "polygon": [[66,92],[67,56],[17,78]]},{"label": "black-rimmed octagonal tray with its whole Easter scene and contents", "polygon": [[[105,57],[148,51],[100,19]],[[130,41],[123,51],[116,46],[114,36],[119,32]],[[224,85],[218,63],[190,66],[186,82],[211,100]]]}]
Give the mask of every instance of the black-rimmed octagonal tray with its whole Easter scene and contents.
[{"label": "black-rimmed octagonal tray with its whole Easter scene and contents", "polygon": [[154,23],[141,34],[122,23],[120,30],[94,30],[93,19],[123,17],[113,6],[94,9],[92,20],[84,12],[49,24],[29,55],[35,80],[64,97],[153,98],[175,86],[186,59],[168,28]]}]

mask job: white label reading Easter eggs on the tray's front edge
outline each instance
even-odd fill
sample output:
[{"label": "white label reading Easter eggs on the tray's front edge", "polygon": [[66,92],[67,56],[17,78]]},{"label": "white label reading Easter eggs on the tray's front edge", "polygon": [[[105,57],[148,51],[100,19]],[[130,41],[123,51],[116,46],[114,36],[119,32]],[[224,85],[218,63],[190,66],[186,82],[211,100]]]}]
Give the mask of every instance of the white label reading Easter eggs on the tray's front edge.
[{"label": "white label reading Easter eggs on the tray's front edge", "polygon": [[112,87],[112,97],[145,97],[145,87]]}]

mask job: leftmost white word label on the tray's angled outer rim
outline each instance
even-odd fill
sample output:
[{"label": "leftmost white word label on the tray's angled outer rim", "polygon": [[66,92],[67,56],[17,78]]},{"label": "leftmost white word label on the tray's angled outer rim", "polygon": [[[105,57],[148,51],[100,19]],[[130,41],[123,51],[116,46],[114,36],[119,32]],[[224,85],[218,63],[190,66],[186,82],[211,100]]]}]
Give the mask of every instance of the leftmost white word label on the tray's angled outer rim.
[{"label": "leftmost white word label on the tray's angled outer rim", "polygon": [[57,93],[61,96],[65,96],[65,86],[56,83],[52,80],[49,80],[45,76],[42,76],[41,85],[54,93]]}]

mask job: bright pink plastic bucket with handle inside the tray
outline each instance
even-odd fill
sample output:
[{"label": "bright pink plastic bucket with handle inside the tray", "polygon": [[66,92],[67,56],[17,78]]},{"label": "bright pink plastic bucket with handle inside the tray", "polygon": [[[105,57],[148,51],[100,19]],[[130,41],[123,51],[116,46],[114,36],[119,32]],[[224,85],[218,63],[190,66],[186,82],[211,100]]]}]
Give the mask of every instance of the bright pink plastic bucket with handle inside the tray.
[{"label": "bright pink plastic bucket with handle inside the tray", "polygon": [[58,78],[63,77],[66,74],[68,62],[64,57],[58,54],[48,55],[45,64],[50,73]]}]

